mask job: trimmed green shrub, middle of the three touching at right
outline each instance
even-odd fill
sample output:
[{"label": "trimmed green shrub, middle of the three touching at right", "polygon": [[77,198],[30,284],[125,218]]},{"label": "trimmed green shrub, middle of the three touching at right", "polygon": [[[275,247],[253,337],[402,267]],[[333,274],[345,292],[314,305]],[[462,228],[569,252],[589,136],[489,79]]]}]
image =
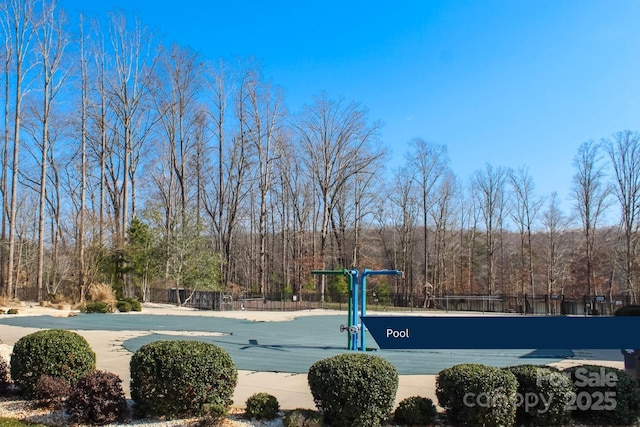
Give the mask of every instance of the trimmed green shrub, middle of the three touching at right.
[{"label": "trimmed green shrub, middle of the three touching at right", "polygon": [[573,383],[560,370],[549,366],[519,365],[504,368],[518,380],[516,424],[565,425]]}]

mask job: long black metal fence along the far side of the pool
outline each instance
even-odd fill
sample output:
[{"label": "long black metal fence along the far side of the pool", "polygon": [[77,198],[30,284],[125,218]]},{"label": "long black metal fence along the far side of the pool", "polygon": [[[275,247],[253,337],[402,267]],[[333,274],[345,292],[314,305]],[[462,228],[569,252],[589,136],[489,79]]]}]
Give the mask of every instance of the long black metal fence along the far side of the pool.
[{"label": "long black metal fence along the far side of the pool", "polygon": [[[348,294],[264,296],[224,292],[192,291],[188,289],[156,289],[150,301],[181,304],[201,310],[295,311],[309,309],[348,309]],[[612,315],[618,308],[631,304],[628,296],[565,296],[565,295],[424,295],[367,294],[369,311],[474,311],[540,315]]]}]

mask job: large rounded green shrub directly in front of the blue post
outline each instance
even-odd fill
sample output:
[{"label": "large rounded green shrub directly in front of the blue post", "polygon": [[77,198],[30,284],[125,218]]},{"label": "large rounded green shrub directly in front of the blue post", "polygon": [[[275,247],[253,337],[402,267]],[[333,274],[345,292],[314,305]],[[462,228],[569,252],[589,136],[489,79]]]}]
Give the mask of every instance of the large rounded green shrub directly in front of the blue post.
[{"label": "large rounded green shrub directly in front of the blue post", "polygon": [[325,423],[336,426],[379,426],[393,410],[398,390],[396,368],[366,353],[320,360],[307,380]]}]

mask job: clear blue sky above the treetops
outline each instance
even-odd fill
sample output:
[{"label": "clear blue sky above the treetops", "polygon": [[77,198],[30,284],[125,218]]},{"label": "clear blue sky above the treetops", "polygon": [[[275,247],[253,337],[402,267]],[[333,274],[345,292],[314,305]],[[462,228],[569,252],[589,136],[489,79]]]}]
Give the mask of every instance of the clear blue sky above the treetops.
[{"label": "clear blue sky above the treetops", "polygon": [[297,111],[322,91],[367,107],[403,162],[414,137],[466,180],[526,166],[567,199],[578,146],[637,130],[640,2],[592,0],[60,0],[135,13],[208,59],[255,57]]}]

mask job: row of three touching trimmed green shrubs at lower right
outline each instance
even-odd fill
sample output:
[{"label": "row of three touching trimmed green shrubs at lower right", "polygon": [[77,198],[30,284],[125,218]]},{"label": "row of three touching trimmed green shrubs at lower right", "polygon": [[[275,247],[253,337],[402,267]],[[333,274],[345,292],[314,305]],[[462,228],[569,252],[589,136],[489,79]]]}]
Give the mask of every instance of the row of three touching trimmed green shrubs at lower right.
[{"label": "row of three touching trimmed green shrubs at lower right", "polygon": [[436,379],[438,403],[456,425],[633,425],[640,417],[638,381],[620,369],[579,365],[559,370],[462,364]]}]

